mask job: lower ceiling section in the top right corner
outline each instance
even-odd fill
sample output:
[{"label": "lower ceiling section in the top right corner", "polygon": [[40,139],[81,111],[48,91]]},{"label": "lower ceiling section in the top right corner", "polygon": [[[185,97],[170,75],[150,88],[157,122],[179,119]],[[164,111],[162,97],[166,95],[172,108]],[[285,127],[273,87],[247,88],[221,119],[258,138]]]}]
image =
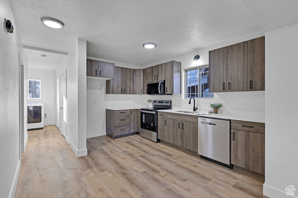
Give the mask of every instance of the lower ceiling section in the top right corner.
[{"label": "lower ceiling section in the top right corner", "polygon": [[241,0],[241,2],[265,32],[298,23],[297,0]]}]

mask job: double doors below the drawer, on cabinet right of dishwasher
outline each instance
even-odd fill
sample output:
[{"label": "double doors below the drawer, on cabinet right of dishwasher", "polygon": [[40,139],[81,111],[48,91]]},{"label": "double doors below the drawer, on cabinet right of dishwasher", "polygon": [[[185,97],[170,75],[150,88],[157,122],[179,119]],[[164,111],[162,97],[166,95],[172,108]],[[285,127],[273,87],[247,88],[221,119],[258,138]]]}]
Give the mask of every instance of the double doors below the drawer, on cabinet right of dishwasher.
[{"label": "double doors below the drawer, on cabinet right of dishwasher", "polygon": [[265,174],[265,134],[231,129],[231,163]]}]

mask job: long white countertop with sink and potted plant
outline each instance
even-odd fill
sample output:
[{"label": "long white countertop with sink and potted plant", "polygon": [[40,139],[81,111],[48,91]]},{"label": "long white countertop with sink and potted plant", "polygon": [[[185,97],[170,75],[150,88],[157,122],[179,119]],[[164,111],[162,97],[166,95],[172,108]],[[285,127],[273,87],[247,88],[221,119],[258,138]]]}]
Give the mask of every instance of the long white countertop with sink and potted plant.
[{"label": "long white countertop with sink and potted plant", "polygon": [[[160,112],[167,112],[167,113],[180,113],[185,115],[195,115],[193,113],[181,113],[176,112],[179,111],[177,109],[169,109],[169,110],[158,110]],[[196,111],[199,112],[199,111]],[[207,113],[207,112],[204,112]],[[210,114],[210,115],[195,115],[195,116],[203,116],[208,118],[222,118],[222,119],[228,119],[228,120],[240,120],[240,121],[248,121],[248,122],[260,122],[265,123],[265,117],[264,116],[255,116],[255,115],[237,115],[237,114],[224,114],[224,113],[218,113],[218,114]]]}]

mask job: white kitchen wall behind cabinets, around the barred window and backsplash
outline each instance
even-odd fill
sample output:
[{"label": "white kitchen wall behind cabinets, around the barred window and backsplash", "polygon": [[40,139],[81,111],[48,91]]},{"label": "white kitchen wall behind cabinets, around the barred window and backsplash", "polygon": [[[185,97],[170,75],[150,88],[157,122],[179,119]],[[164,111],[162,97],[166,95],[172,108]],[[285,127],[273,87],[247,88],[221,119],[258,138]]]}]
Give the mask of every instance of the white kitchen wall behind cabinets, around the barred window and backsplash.
[{"label": "white kitchen wall behind cabinets, around the barred window and backsplash", "polygon": [[[182,72],[182,85],[181,94],[174,94],[173,96],[149,96],[149,95],[119,95],[119,94],[105,94],[105,81],[101,80],[87,80],[87,138],[105,135],[105,108],[106,107],[146,107],[148,105],[147,99],[169,99],[172,100],[173,106],[183,106],[193,109],[193,102],[188,104],[189,99],[184,98],[184,70],[192,66],[209,64],[209,50],[214,50],[220,47],[232,45],[238,42],[243,42],[249,39],[264,36],[263,31],[249,34],[244,37],[235,38],[220,44],[204,47],[195,51],[190,51],[178,56],[166,58],[151,64],[137,66],[121,62],[103,60],[98,58],[87,57],[100,61],[107,61],[115,63],[116,66],[128,67],[133,69],[146,68],[157,64],[165,63],[168,61],[181,62]],[[200,59],[196,64],[193,64],[193,58],[199,55]],[[249,114],[249,115],[265,115],[265,91],[254,92],[229,92],[229,93],[216,93],[220,96],[220,101],[213,99],[198,98],[196,99],[196,106],[199,110],[207,111],[209,104],[214,102],[222,102],[223,109],[220,113],[236,113],[236,114]],[[232,95],[232,101],[227,100],[227,95]],[[97,104],[94,104],[97,100]],[[173,107],[174,108],[174,107]],[[179,108],[179,107],[177,107]]]}]

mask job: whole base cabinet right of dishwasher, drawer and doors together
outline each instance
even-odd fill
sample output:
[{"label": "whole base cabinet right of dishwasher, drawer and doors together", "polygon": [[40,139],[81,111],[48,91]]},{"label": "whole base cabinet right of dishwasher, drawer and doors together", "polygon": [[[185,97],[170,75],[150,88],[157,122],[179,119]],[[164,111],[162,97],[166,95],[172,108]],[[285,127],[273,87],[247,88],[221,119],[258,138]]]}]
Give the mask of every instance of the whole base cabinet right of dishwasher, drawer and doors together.
[{"label": "whole base cabinet right of dishwasher, drawer and doors together", "polygon": [[231,164],[265,175],[265,123],[231,120]]}]

